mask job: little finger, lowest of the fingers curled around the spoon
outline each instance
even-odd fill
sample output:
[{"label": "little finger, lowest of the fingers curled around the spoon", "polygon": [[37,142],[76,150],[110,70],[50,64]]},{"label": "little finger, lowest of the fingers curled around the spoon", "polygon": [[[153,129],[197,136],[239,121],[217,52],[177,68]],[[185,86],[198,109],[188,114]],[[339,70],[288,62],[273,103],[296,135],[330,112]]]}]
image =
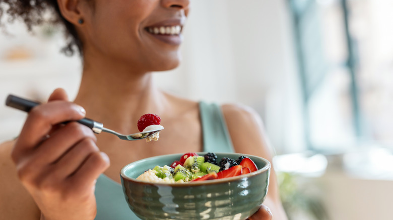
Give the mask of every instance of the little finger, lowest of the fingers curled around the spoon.
[{"label": "little finger, lowest of the fingers curled around the spoon", "polygon": [[70,186],[78,188],[78,191],[90,189],[109,164],[109,158],[104,152],[91,153],[82,166],[70,176]]}]

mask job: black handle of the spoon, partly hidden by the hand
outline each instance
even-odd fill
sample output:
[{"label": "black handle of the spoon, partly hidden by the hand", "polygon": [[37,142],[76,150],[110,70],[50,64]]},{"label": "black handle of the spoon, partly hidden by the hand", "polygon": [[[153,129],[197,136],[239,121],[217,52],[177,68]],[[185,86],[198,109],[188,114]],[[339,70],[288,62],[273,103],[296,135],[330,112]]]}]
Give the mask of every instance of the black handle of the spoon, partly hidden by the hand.
[{"label": "black handle of the spoon, partly hidden by the hand", "polygon": [[[6,99],[7,106],[22,110],[27,113],[30,112],[30,110],[33,107],[35,107],[39,104],[41,104],[41,103],[36,102],[36,101],[32,101],[32,100],[28,100],[25,98],[21,98],[21,97],[15,96],[15,95],[8,95],[8,97]],[[97,134],[101,133],[102,128],[103,128],[102,123],[96,122],[96,121],[88,119],[88,118],[78,120],[77,122],[89,127],[90,129],[93,130],[93,132],[95,132]],[[68,123],[68,122],[64,122],[64,124],[65,123]]]}]

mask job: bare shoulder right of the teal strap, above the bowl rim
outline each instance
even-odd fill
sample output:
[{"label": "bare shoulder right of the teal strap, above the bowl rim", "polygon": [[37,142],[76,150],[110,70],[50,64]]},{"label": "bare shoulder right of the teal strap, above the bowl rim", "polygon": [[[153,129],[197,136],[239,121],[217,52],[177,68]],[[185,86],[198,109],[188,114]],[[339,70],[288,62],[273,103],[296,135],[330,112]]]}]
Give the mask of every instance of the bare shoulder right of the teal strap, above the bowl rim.
[{"label": "bare shoulder right of the teal strap, above the bowl rim", "polygon": [[222,112],[236,152],[272,158],[263,121],[253,108],[242,104],[224,104]]}]

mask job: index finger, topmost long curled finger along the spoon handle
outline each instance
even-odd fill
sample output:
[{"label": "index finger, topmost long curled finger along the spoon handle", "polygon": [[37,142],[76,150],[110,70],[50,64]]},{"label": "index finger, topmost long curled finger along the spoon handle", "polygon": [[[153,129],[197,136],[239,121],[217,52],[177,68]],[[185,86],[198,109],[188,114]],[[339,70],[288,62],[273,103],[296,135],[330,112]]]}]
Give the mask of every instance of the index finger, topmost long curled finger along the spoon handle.
[{"label": "index finger, topmost long curled finger along the spoon handle", "polygon": [[21,152],[33,149],[48,134],[53,125],[84,118],[85,109],[67,101],[52,101],[34,107],[23,126],[12,152],[12,158],[18,158]]}]

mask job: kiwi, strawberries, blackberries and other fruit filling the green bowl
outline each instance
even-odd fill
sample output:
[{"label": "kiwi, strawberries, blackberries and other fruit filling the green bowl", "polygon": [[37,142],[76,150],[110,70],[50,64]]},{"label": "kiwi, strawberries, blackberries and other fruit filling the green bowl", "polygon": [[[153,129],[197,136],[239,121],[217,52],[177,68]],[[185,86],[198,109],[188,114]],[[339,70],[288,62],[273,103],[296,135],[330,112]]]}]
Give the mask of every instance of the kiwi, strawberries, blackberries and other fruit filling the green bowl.
[{"label": "kiwi, strawberries, blackberries and other fruit filling the green bowl", "polygon": [[[203,156],[186,153],[170,166],[156,166],[145,173],[150,172],[146,175],[154,173],[157,177],[167,180],[166,182],[194,182],[239,176],[256,170],[258,168],[255,163],[245,156],[240,156],[236,160],[224,157],[218,162],[215,153],[207,153]],[[139,179],[143,178],[139,177]]]}]

